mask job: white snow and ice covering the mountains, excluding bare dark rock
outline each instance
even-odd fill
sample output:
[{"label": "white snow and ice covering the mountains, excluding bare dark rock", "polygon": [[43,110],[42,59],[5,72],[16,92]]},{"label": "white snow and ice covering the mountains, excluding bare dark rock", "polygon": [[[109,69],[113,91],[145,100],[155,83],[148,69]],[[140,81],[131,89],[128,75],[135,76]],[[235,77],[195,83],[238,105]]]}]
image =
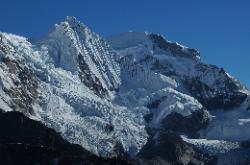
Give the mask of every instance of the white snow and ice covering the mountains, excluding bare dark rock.
[{"label": "white snow and ice covering the mountains, excluding bare dark rock", "polygon": [[[117,143],[133,157],[147,143],[147,124],[161,127],[162,119],[172,112],[187,117],[202,109],[184,90],[183,77],[200,77],[209,87],[220,90],[223,82],[216,83],[227,76],[213,66],[206,65],[204,71],[200,60],[154,48],[149,33],[128,32],[108,38],[114,51],[74,17],[67,17],[46,37],[34,42],[13,34],[1,35],[1,44],[8,47],[7,53],[0,49],[1,59],[8,56],[21,61],[39,78],[39,96],[33,105],[35,116],[29,117],[55,129],[69,142],[103,157],[111,157]],[[183,51],[188,49],[179,46]],[[108,91],[105,98],[96,95],[79,78],[79,54],[91,74]],[[3,88],[16,86],[6,67],[1,62],[0,108],[11,111],[13,98]],[[173,70],[175,75],[164,73]],[[148,105],[157,100],[160,100],[158,107],[149,109]],[[213,152],[237,148],[238,143],[223,140],[250,137],[246,133],[250,128],[250,116],[244,107],[247,104],[228,113],[214,111],[212,115],[216,117],[202,132],[204,139],[185,140],[198,145],[204,143]],[[153,113],[153,119],[146,123],[144,116],[149,113]]]}]

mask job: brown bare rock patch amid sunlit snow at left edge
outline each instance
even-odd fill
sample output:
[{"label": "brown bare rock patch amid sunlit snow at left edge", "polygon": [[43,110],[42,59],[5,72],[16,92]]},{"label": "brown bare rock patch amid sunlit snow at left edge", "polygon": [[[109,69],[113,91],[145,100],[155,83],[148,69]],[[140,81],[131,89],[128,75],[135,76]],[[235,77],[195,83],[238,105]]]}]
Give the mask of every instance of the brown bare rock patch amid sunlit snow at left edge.
[{"label": "brown bare rock patch amid sunlit snow at left edge", "polygon": [[[33,103],[35,102],[38,92],[38,79],[35,74],[21,61],[4,57],[2,62],[7,66],[10,78],[15,84],[15,88],[3,90],[11,97],[13,109],[18,109],[23,113],[32,114]],[[17,79],[15,78],[17,76]]]}]

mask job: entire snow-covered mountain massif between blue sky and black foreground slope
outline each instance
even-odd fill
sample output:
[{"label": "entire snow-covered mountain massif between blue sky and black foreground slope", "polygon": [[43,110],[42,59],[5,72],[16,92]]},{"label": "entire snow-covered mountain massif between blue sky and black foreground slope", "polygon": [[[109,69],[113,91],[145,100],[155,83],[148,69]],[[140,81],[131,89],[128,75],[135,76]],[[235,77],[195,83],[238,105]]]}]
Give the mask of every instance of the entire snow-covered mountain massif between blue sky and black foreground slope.
[{"label": "entire snow-covered mountain massif between blue sky and black foreground slope", "polygon": [[195,49],[144,32],[104,39],[74,17],[36,41],[0,39],[0,108],[70,143],[135,164],[250,160],[250,93]]}]

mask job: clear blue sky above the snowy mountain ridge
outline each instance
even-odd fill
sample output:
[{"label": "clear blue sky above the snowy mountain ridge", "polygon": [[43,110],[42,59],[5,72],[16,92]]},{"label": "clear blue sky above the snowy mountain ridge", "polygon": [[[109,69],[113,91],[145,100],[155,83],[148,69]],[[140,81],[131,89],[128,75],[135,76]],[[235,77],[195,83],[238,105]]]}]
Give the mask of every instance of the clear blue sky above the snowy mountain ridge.
[{"label": "clear blue sky above the snowy mountain ridge", "polygon": [[67,15],[102,36],[163,34],[250,88],[249,0],[0,0],[0,31],[37,38]]}]

